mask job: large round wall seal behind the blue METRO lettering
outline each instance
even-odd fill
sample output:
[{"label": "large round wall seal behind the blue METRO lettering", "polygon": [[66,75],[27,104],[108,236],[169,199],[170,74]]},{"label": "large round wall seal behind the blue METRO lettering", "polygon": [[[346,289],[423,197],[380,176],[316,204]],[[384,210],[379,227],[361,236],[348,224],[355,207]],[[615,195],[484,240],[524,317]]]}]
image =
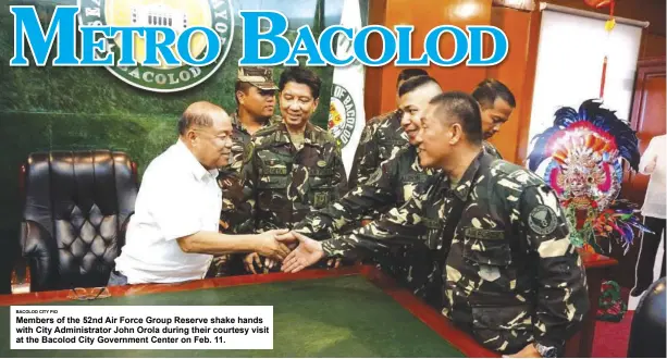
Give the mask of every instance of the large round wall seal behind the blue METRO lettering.
[{"label": "large round wall seal behind the blue METRO lettering", "polygon": [[[222,65],[234,38],[234,11],[231,0],[78,0],[82,25],[89,26],[168,26],[176,36],[186,28],[205,26],[213,29],[222,48],[219,57],[206,66],[188,65],[180,59],[176,44],[169,47],[180,65],[168,65],[158,52],[159,65],[116,66],[107,69],[127,84],[156,92],[174,92],[201,84]],[[123,48],[122,37],[116,36],[107,44],[107,51],[114,53],[115,63]],[[158,40],[158,47],[160,39]],[[146,60],[145,38],[134,35],[134,52],[137,63]],[[215,49],[217,50],[217,49]],[[207,37],[195,33],[189,39],[189,52],[194,59],[201,59],[208,48]],[[100,53],[100,58],[104,54]]]}]

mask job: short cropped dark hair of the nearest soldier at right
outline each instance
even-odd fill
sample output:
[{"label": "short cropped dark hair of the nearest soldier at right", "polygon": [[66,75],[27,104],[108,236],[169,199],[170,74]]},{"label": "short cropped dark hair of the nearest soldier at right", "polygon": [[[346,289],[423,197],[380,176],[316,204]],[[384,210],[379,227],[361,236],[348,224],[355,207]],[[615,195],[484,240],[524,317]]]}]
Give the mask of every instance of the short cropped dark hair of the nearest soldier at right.
[{"label": "short cropped dark hair of the nearest soldier at right", "polygon": [[431,99],[430,103],[436,106],[439,120],[446,122],[454,119],[461,125],[468,141],[482,144],[482,112],[472,96],[461,91],[443,92]]}]

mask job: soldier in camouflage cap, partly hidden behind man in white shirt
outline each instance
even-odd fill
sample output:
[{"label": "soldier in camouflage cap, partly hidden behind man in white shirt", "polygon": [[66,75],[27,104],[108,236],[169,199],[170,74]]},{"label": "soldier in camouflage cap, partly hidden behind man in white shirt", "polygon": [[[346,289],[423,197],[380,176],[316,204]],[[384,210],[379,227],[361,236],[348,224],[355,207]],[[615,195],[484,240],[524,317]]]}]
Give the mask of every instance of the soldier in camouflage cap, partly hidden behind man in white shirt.
[{"label": "soldier in camouflage cap, partly hidden behind man in white shirt", "polygon": [[[281,121],[274,115],[275,91],[273,73],[269,67],[238,67],[235,94],[236,112],[232,114],[232,152],[230,163],[220,169],[218,184],[222,188],[222,211],[220,231],[223,233],[247,233],[242,224],[249,215],[249,209],[239,203],[243,199],[243,184],[239,172],[243,151],[250,136],[258,129]],[[207,276],[224,276],[243,272],[240,255],[215,257]]]}]

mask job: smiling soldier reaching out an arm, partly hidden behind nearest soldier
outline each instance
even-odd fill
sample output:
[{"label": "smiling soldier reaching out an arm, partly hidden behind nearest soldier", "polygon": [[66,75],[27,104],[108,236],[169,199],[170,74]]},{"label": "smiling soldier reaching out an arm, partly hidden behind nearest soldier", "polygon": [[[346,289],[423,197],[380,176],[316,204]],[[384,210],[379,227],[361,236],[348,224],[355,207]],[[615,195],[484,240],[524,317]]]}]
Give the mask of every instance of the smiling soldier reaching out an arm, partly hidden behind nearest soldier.
[{"label": "smiling soldier reaching out an arm, partly hidden behind nearest soldier", "polygon": [[[294,231],[316,238],[329,238],[368,213],[384,213],[408,201],[415,188],[433,174],[433,171],[419,165],[413,144],[423,110],[429,100],[441,92],[440,85],[430,76],[405,82],[398,90],[398,107],[404,113],[400,125],[410,145],[392,153],[367,182],[348,191],[339,201],[306,216]],[[425,233],[425,227],[419,230]],[[441,271],[433,255],[423,244],[416,243],[393,248],[390,256],[376,261],[385,273],[440,309],[443,305]]]}]

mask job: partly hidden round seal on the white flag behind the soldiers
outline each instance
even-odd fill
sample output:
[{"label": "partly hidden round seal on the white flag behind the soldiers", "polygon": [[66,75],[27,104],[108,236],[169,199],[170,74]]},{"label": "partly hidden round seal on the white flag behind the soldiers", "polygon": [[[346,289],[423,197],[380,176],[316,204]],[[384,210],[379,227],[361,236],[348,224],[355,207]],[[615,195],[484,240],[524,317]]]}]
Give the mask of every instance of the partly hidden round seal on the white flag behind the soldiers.
[{"label": "partly hidden round seal on the white flag behind the soldiers", "polygon": [[329,104],[329,131],[344,148],[353,136],[357,121],[357,108],[351,95],[341,85],[333,84]]}]

